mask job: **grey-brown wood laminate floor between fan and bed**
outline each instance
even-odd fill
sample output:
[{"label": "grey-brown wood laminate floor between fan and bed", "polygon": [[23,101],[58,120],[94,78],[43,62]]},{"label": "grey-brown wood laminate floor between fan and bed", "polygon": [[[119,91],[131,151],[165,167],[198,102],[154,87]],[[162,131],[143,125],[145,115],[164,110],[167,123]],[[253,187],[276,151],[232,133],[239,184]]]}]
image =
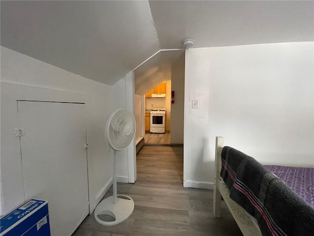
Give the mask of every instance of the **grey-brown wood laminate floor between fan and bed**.
[{"label": "grey-brown wood laminate floor between fan and bed", "polygon": [[213,216],[212,190],[183,188],[183,147],[144,146],[136,164],[136,182],[117,186],[134,200],[131,216],[102,226],[88,215],[73,236],[242,236],[224,202]]}]

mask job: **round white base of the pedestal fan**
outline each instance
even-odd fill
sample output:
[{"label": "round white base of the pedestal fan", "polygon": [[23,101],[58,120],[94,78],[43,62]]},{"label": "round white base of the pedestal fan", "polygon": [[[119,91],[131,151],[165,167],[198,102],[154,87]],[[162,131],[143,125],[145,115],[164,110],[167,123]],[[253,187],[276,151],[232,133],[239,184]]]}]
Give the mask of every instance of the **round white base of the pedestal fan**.
[{"label": "round white base of the pedestal fan", "polygon": [[[123,197],[123,198],[119,198]],[[125,199],[124,199],[125,198]],[[94,217],[96,221],[105,226],[117,225],[126,219],[132,214],[134,209],[134,201],[131,197],[118,194],[117,203],[113,204],[113,196],[105,198],[94,211]],[[99,215],[109,215],[114,218],[114,221],[104,221],[101,220]]]}]

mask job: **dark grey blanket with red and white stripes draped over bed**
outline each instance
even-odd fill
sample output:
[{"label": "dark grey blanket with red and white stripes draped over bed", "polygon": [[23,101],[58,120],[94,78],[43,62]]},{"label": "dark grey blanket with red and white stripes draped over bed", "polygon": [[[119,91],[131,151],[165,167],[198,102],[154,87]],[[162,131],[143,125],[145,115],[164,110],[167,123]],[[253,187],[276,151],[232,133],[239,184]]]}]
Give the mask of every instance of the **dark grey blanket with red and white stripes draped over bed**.
[{"label": "dark grey blanket with red and white stripes draped over bed", "polygon": [[263,236],[314,236],[314,210],[254,158],[231,147],[221,153],[220,176],[230,198],[258,222]]}]

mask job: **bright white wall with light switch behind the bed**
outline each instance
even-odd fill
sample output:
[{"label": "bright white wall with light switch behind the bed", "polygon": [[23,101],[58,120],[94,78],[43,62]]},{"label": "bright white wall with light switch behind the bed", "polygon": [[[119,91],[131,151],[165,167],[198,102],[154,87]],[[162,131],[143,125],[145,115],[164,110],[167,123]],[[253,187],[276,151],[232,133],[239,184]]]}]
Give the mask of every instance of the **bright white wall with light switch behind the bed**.
[{"label": "bright white wall with light switch behind the bed", "polygon": [[313,52],[313,42],[186,50],[185,187],[212,187],[215,136],[263,164],[314,167]]}]

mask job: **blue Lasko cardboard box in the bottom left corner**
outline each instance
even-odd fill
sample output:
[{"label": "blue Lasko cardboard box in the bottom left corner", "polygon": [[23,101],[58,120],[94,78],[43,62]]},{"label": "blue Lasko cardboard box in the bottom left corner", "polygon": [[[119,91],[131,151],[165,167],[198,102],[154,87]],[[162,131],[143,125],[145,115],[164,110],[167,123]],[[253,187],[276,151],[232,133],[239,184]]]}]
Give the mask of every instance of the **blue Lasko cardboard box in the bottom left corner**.
[{"label": "blue Lasko cardboard box in the bottom left corner", "polygon": [[50,236],[48,201],[30,199],[2,216],[0,236]]}]

